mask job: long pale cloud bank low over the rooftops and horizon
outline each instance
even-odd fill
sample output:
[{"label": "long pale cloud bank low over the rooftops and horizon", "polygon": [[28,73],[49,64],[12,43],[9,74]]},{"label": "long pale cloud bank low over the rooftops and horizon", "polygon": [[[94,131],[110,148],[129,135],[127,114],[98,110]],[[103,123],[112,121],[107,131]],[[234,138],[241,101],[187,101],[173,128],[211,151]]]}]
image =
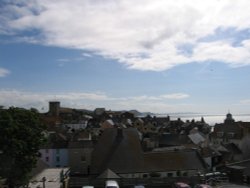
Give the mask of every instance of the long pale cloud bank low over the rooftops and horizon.
[{"label": "long pale cloud bank low over the rooftops and horizon", "polygon": [[[166,97],[167,96],[167,97]],[[71,108],[86,108],[93,110],[105,107],[112,110],[151,111],[164,113],[166,111],[188,110],[189,104],[169,104],[168,100],[183,99],[187,94],[169,94],[160,96],[135,96],[114,98],[102,92],[74,92],[74,93],[38,93],[19,90],[0,90],[0,105],[9,107],[36,108],[42,111],[48,110],[49,101],[60,101],[62,106]]]}]

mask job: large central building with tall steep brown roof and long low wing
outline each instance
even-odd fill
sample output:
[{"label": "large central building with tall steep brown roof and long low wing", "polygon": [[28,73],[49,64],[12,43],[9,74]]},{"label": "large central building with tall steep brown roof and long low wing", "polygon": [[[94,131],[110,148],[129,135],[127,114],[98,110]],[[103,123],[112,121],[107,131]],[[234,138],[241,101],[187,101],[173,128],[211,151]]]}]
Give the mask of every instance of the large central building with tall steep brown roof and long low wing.
[{"label": "large central building with tall steep brown roof and long low wing", "polygon": [[[105,146],[105,147],[103,147]],[[121,178],[193,176],[206,165],[195,150],[144,153],[136,129],[106,129],[96,144],[90,172],[110,169]]]}]

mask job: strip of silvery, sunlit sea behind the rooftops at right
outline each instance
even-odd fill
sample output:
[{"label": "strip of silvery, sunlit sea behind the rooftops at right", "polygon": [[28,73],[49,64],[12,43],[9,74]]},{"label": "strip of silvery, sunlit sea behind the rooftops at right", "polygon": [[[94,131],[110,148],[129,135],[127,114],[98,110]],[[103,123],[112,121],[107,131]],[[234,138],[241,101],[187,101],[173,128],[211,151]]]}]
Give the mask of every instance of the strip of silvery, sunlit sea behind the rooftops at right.
[{"label": "strip of silvery, sunlit sea behind the rooftops at right", "polygon": [[[170,117],[170,120],[177,120],[178,118],[181,118],[182,121],[200,121],[203,117],[205,122],[209,124],[210,126],[214,126],[216,123],[223,123],[226,119],[226,114],[223,115],[208,115],[208,114],[159,114],[156,115],[157,117]],[[250,114],[238,114],[233,115],[233,119],[235,121],[243,121],[243,122],[250,122]]]}]

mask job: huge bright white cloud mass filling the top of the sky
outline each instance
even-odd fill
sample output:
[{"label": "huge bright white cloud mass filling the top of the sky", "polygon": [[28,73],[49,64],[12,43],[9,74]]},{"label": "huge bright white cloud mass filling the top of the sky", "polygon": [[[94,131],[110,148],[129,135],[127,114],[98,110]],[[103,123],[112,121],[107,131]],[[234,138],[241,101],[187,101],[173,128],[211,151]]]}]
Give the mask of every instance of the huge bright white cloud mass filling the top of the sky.
[{"label": "huge bright white cloud mass filling the top of the sky", "polygon": [[[20,4],[20,1],[16,1]],[[18,4],[17,3],[17,4]],[[130,69],[162,71],[193,61],[250,64],[247,39],[201,41],[219,28],[250,29],[248,0],[27,0],[3,6],[2,33],[37,30],[23,36],[40,42],[114,58]],[[193,53],[179,47],[191,44]],[[89,57],[89,54],[83,53]]]}]

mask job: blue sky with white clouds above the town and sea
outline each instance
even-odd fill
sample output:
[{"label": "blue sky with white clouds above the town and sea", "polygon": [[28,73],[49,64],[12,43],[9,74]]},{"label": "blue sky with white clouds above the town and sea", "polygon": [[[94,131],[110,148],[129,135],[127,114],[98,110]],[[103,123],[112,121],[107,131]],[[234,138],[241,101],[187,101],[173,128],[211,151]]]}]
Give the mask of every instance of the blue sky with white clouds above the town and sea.
[{"label": "blue sky with white clouds above the town and sea", "polygon": [[249,0],[1,0],[0,105],[250,114]]}]

